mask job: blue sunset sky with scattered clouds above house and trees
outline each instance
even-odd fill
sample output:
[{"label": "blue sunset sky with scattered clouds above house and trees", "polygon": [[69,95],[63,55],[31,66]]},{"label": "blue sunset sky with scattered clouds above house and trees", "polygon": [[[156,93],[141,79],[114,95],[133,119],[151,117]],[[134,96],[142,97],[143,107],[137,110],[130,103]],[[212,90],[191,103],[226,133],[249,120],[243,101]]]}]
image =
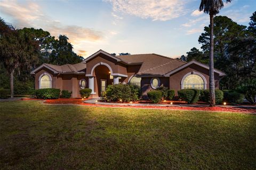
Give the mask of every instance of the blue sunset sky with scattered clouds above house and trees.
[{"label": "blue sunset sky with scattered clouds above house and trees", "polygon": [[[186,55],[200,48],[198,37],[209,15],[200,0],[2,1],[0,16],[15,28],[42,28],[66,35],[84,58],[99,49],[108,53]],[[218,15],[248,25],[256,0],[233,0]]]}]

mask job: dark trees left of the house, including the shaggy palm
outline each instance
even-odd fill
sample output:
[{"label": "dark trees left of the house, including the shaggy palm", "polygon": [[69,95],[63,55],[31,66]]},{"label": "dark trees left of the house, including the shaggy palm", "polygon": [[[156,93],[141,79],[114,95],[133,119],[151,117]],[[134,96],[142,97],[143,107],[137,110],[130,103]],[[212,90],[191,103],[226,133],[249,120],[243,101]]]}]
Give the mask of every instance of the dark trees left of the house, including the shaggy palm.
[{"label": "dark trees left of the house, including the shaggy palm", "polygon": [[[0,88],[28,94],[34,88],[30,71],[43,63],[76,64],[83,57],[73,51],[68,37],[58,38],[42,29],[15,29],[0,18]],[[10,83],[8,83],[10,82]]]}]

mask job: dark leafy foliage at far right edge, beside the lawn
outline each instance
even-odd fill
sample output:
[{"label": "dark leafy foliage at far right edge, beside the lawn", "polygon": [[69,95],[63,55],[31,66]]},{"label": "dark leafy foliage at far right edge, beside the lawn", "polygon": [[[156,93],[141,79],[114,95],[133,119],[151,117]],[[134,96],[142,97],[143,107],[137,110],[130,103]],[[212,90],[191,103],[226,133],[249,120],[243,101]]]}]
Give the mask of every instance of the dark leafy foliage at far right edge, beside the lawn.
[{"label": "dark leafy foliage at far right edge, beside the lawn", "polygon": [[246,100],[248,100],[251,104],[256,104],[256,79],[243,83],[236,89],[236,91],[244,94]]}]

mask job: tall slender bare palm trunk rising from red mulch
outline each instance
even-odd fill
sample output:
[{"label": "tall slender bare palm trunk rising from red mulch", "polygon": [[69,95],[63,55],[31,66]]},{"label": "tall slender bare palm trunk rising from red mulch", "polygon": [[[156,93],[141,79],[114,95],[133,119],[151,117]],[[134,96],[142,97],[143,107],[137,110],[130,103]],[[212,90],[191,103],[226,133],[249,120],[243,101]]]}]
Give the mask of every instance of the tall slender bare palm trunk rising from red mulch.
[{"label": "tall slender bare palm trunk rising from red mulch", "polygon": [[213,14],[210,12],[210,69],[209,69],[209,88],[210,88],[210,106],[215,106],[215,84],[214,84],[214,62],[213,62]]}]

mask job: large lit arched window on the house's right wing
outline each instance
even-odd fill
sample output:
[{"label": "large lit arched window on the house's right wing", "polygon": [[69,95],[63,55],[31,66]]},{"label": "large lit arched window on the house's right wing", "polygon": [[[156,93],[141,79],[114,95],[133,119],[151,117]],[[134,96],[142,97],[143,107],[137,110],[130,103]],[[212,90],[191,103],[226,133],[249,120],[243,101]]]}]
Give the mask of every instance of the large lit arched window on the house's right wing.
[{"label": "large lit arched window on the house's right wing", "polygon": [[186,78],[183,79],[182,84],[182,89],[205,89],[205,83],[203,78],[197,74],[187,75]]}]

